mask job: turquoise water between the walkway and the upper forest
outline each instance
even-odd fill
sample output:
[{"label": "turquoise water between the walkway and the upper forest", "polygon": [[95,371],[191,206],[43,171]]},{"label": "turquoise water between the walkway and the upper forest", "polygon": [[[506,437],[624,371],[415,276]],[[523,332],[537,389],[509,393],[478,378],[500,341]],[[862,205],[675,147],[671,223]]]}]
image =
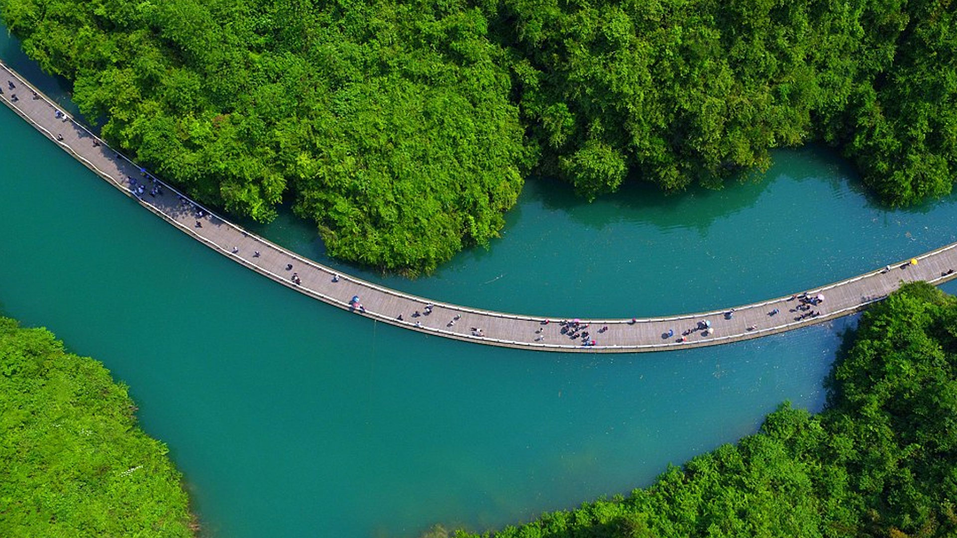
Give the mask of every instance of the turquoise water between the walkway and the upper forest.
[{"label": "turquoise water between the walkway and the upper forest", "polygon": [[778,151],[761,182],[667,196],[632,186],[591,205],[526,184],[501,239],[428,279],[326,258],[308,223],[251,228],[369,280],[452,303],[556,318],[655,316],[790,295],[957,240],[957,198],[905,212],[869,199],[826,148]]}]

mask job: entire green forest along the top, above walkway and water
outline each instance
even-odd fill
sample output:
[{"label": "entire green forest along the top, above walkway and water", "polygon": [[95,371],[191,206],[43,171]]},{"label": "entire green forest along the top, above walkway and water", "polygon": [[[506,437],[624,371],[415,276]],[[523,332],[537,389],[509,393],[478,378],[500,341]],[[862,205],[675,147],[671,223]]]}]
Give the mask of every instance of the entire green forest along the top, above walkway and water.
[{"label": "entire green forest along the top, above walkway and water", "polygon": [[718,188],[824,141],[889,205],[957,177],[951,0],[0,0],[102,135],[199,200],[287,201],[330,255],[429,271],[529,173]]}]

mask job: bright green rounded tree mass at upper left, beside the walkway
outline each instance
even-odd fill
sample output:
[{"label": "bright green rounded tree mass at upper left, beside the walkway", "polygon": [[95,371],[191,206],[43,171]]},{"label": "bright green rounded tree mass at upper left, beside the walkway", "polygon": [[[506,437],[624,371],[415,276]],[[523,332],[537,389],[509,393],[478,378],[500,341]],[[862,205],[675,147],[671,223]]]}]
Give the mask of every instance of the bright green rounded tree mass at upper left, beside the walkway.
[{"label": "bright green rounded tree mass at upper left, beside the walkway", "polygon": [[329,253],[430,270],[487,244],[530,164],[501,47],[464,0],[0,0],[103,135],[256,220],[287,190]]}]

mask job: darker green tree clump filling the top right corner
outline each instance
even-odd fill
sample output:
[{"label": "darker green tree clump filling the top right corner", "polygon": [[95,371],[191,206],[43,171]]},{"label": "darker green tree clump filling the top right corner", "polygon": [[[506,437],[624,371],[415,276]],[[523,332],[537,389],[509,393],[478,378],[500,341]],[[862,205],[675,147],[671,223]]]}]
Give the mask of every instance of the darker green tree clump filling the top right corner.
[{"label": "darker green tree clump filling the top right corner", "polygon": [[950,1],[908,2],[876,13],[874,26],[896,36],[883,69],[857,83],[844,118],[828,133],[845,144],[880,197],[911,204],[950,192],[957,176],[957,12]]}]

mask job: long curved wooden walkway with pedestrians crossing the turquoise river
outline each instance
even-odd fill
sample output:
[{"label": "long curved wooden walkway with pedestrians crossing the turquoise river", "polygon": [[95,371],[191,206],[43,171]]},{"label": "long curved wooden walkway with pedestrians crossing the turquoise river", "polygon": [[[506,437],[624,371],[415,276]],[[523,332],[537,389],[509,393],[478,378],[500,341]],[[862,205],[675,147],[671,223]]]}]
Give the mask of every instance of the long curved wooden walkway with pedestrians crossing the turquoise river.
[{"label": "long curved wooden walkway with pedestrians crossing the turquoise river", "polygon": [[[412,330],[479,344],[544,351],[634,352],[715,346],[757,338],[845,316],[874,303],[897,289],[902,281],[927,280],[939,284],[957,277],[957,243],[917,257],[919,263],[898,261],[883,268],[806,290],[808,298],[824,301],[806,304],[802,298],[784,297],[724,311],[699,312],[666,318],[637,320],[582,320],[568,331],[560,320],[505,314],[449,303],[430,302],[336,272],[310,259],[250,234],[183,193],[146,173],[121,153],[106,146],[95,134],[61,113],[54,101],[27,80],[0,63],[0,101],[50,140],[135,198],[147,210],[250,269],[300,293],[357,315]],[[139,192],[140,187],[143,192]],[[159,192],[151,193],[154,187]],[[800,295],[800,294],[799,294]],[[352,302],[359,298],[359,307]],[[426,305],[434,303],[431,313]],[[800,309],[798,308],[807,308]],[[419,315],[415,316],[418,312]],[[816,316],[802,315],[816,312]],[[710,328],[705,329],[705,324]],[[583,327],[581,325],[588,325]],[[583,345],[581,334],[588,331]],[[668,336],[669,331],[673,335]],[[684,338],[682,338],[684,334]]]}]

